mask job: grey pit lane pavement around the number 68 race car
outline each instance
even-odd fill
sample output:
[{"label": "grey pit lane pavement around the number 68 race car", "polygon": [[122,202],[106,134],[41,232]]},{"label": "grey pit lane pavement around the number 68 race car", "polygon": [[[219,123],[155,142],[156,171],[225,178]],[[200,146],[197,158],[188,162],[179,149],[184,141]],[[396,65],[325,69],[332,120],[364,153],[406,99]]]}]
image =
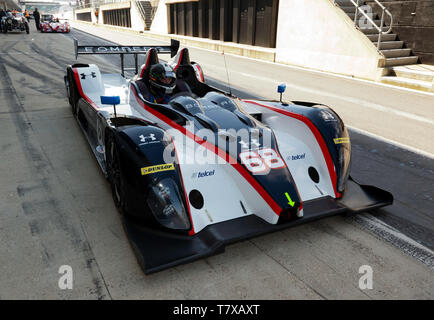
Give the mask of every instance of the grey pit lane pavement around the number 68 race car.
[{"label": "grey pit lane pavement around the number 68 race car", "polygon": [[[430,268],[345,217],[244,241],[224,254],[144,276],[65,98],[71,37],[94,41],[80,34],[39,34],[32,25],[30,35],[0,35],[0,298],[434,297]],[[118,71],[118,61],[80,61]],[[351,138],[355,178],[396,198],[394,206],[372,214],[408,226],[408,235],[432,246],[431,160],[355,133]],[[372,290],[358,288],[365,264],[374,271]],[[61,265],[73,268],[73,290],[58,288]]]}]

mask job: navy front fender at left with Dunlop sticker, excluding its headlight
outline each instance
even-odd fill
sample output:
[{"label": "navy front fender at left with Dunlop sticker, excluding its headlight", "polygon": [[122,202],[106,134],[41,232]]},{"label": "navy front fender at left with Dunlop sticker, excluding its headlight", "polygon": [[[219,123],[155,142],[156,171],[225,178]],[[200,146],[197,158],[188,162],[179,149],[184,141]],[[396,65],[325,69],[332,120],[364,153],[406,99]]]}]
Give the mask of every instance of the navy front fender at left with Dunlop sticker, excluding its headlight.
[{"label": "navy front fender at left with Dunlop sticker, excluding its headlight", "polygon": [[146,200],[151,186],[167,178],[177,186],[185,211],[189,212],[176,149],[163,129],[152,125],[124,126],[115,130],[115,141],[120,150],[127,214],[162,227]]}]

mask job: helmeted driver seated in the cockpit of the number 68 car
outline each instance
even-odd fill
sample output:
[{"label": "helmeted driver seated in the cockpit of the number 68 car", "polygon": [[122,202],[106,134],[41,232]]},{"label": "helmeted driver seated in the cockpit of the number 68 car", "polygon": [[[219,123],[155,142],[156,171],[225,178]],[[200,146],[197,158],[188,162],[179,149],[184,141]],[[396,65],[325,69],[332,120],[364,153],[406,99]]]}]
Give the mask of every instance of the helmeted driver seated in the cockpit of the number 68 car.
[{"label": "helmeted driver seated in the cockpit of the number 68 car", "polygon": [[167,104],[176,87],[176,75],[167,63],[154,64],[149,71],[149,96],[145,97],[154,103]]}]

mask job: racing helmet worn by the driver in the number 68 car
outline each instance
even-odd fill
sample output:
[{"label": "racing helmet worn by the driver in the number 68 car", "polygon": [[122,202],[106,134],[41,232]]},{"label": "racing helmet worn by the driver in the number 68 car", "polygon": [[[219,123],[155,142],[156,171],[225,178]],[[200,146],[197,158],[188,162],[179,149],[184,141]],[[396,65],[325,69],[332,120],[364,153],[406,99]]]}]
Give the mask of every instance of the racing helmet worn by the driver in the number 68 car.
[{"label": "racing helmet worn by the driver in the number 68 car", "polygon": [[149,85],[161,94],[170,94],[176,87],[176,75],[167,63],[157,63],[149,71]]}]

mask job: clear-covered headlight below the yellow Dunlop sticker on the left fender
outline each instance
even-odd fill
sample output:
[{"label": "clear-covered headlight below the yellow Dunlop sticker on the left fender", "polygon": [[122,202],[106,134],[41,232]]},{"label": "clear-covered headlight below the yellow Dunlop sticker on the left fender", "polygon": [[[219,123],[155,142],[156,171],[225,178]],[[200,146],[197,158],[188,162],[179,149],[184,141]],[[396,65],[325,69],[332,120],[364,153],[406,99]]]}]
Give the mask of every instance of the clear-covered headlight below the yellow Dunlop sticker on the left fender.
[{"label": "clear-covered headlight below the yellow Dunlop sticker on the left fender", "polygon": [[147,203],[158,222],[166,228],[189,230],[190,220],[181,199],[177,185],[166,178],[149,189]]}]

